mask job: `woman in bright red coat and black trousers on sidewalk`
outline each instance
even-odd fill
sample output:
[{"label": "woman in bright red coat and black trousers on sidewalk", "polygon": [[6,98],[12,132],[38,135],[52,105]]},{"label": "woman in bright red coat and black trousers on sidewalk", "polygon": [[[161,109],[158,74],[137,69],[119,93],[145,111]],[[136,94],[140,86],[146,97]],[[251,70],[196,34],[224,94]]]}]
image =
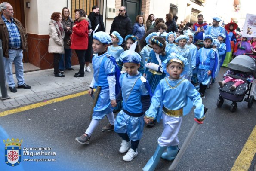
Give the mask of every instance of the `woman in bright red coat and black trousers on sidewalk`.
[{"label": "woman in bright red coat and black trousers on sidewalk", "polygon": [[75,24],[73,27],[73,33],[71,35],[71,49],[75,49],[75,52],[79,61],[79,72],[74,74],[74,77],[84,76],[84,64],[85,53],[88,49],[88,18],[83,9],[75,9]]}]

